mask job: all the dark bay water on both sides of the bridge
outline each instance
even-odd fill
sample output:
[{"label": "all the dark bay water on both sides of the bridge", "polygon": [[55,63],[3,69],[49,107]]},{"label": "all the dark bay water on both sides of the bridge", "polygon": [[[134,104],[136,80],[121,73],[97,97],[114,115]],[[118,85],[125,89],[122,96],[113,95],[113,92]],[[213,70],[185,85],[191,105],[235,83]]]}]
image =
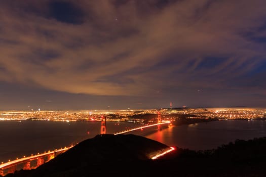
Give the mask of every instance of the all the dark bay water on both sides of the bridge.
[{"label": "all the dark bay water on both sides of the bridge", "polygon": [[[107,122],[107,133],[113,134],[138,124]],[[88,131],[90,132],[88,134]],[[93,138],[100,131],[100,122],[0,121],[0,162],[23,155],[59,149]],[[266,137],[266,121],[215,121],[190,125],[157,126],[130,132],[168,146],[192,150],[213,149],[236,139]]]}]

